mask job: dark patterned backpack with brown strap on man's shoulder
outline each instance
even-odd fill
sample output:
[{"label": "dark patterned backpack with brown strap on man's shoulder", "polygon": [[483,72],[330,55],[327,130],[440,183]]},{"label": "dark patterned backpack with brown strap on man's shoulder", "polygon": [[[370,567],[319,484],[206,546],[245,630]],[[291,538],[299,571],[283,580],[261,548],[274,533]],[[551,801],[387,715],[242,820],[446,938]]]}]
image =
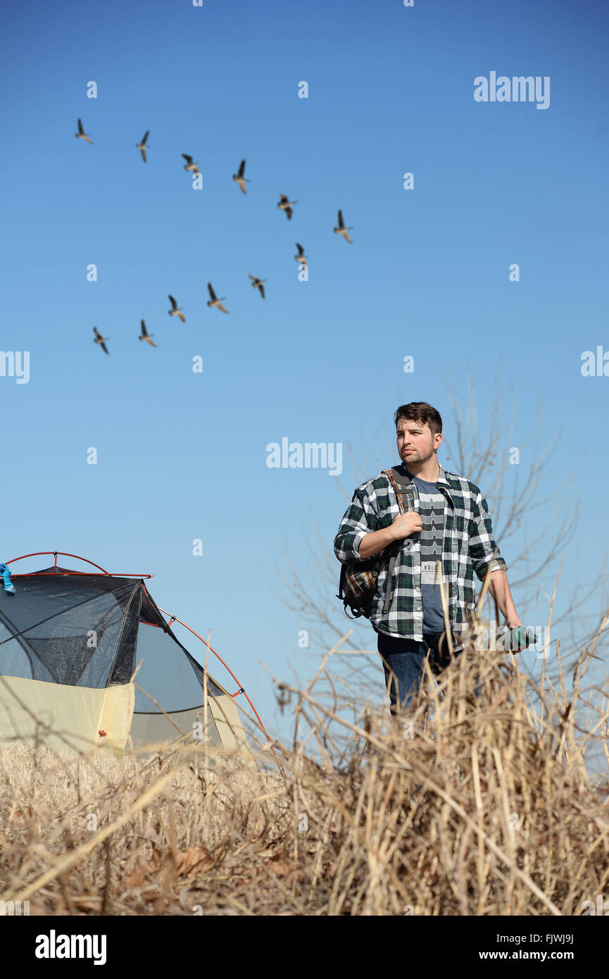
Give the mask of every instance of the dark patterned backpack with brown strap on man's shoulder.
[{"label": "dark patterned backpack with brown strap on man's shoulder", "polygon": [[[383,472],[396,493],[399,512],[405,513],[406,510],[414,509],[412,483],[409,479],[404,483],[404,477],[399,473],[396,474],[395,469],[396,467],[393,469],[384,469]],[[398,485],[396,475],[398,475],[401,485]],[[406,506],[404,506],[404,497],[407,503]],[[379,572],[387,560],[389,560],[389,566],[387,568],[387,586],[385,589],[383,612],[389,611],[392,600],[394,565],[401,544],[401,540],[395,540],[393,543],[388,544],[380,554],[373,554],[372,557],[359,561],[349,561],[341,567],[339,593],[336,597],[340,598],[343,602],[345,614],[350,619],[359,619],[360,616],[363,616],[364,619],[370,618]],[[351,615],[348,612],[348,608],[351,609]]]}]

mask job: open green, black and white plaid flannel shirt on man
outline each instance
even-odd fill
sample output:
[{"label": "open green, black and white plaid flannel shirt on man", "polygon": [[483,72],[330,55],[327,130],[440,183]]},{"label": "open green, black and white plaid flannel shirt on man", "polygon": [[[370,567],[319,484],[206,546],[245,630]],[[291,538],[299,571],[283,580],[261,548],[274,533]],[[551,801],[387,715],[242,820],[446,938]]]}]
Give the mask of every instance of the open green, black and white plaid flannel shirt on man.
[{"label": "open green, black and white plaid flannel shirt on man", "polygon": [[[403,466],[400,471],[406,475]],[[458,632],[466,622],[466,607],[475,601],[474,572],[482,582],[491,562],[493,568],[504,571],[507,565],[494,542],[489,507],[480,489],[469,480],[446,472],[442,466],[436,485],[447,503],[442,571],[448,588],[450,628],[456,627]],[[418,510],[419,494],[416,484],[412,486],[414,509]],[[357,487],[334,539],[334,553],[339,561],[361,560],[359,544],[363,537],[390,527],[399,512],[396,493],[384,473]],[[410,545],[404,547],[402,542],[399,547],[390,609],[383,614],[388,571],[388,561],[384,561],[372,602],[370,622],[381,632],[422,641],[420,535],[412,534],[404,539],[409,540]],[[381,556],[380,552],[378,556]]]}]

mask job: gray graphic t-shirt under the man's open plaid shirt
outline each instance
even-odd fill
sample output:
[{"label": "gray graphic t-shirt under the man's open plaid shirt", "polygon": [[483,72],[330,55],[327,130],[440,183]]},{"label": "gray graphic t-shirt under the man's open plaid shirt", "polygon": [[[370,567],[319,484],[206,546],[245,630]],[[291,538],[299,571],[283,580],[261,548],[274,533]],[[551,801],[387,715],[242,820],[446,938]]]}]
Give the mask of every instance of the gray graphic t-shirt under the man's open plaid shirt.
[{"label": "gray graphic t-shirt under the man's open plaid shirt", "polygon": [[[408,470],[406,470],[408,472]],[[421,600],[423,602],[423,631],[444,632],[445,617],[442,610],[440,578],[436,561],[442,565],[445,536],[445,496],[435,483],[428,483],[408,472],[419,493],[419,516],[423,521],[421,531]],[[447,599],[448,583],[445,579]]]}]

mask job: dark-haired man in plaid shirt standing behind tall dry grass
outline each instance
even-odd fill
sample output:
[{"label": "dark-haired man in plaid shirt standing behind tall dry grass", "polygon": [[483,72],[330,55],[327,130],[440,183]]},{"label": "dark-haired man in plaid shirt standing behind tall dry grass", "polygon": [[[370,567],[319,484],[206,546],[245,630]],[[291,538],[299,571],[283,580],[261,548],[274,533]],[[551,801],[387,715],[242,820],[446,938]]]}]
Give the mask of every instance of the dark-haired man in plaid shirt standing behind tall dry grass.
[{"label": "dark-haired man in plaid shirt standing behind tall dry grass", "polygon": [[416,698],[427,656],[435,674],[448,662],[437,561],[454,652],[462,643],[452,629],[465,628],[466,609],[475,600],[473,574],[484,581],[490,564],[489,590],[508,628],[523,625],[507,583],[507,565],[492,537],[486,499],[474,483],[438,462],[440,412],[426,401],[411,401],[398,407],[395,422],[401,465],[393,467],[393,474],[411,509],[400,513],[396,491],[380,473],[355,489],[334,540],[343,563],[372,557],[400,541],[393,568],[389,559],[381,566],[370,615],[394,715],[398,701],[403,709]]}]

